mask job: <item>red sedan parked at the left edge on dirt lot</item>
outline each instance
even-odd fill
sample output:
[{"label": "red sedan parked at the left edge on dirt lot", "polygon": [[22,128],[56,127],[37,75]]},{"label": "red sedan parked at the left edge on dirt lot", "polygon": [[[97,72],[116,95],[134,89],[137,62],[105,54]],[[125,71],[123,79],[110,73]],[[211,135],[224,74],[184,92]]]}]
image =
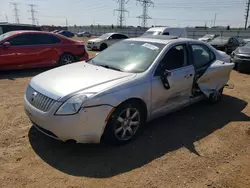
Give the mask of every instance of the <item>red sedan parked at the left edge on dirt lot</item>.
[{"label": "red sedan parked at the left edge on dirt lot", "polygon": [[66,65],[88,60],[83,42],[43,31],[0,35],[0,70]]}]

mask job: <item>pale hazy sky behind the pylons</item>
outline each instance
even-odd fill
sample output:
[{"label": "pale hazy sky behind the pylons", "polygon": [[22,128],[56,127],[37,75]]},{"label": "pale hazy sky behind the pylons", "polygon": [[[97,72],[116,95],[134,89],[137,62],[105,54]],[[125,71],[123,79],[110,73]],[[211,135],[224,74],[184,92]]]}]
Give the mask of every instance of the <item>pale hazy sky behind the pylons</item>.
[{"label": "pale hazy sky behind the pylons", "polygon": [[[211,26],[216,14],[215,25],[243,27],[246,0],[152,0],[148,8],[148,26],[172,27]],[[20,23],[31,24],[29,4],[35,4],[35,17],[40,25],[117,25],[119,7],[117,0],[0,0],[0,22],[15,22],[11,2],[18,3]],[[126,25],[138,26],[137,16],[142,6],[136,0],[125,5]]]}]

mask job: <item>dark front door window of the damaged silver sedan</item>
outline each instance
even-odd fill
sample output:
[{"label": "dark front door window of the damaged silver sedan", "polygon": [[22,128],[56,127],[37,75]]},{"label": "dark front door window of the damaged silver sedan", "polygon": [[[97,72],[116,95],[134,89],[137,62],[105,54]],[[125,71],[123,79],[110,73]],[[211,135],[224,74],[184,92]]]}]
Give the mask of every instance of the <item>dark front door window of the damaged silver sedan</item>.
[{"label": "dark front door window of the damaged silver sedan", "polygon": [[161,70],[174,70],[184,67],[185,65],[187,65],[186,45],[177,45],[172,47],[163,57],[159,67],[157,68],[156,75],[159,75],[159,71]]}]

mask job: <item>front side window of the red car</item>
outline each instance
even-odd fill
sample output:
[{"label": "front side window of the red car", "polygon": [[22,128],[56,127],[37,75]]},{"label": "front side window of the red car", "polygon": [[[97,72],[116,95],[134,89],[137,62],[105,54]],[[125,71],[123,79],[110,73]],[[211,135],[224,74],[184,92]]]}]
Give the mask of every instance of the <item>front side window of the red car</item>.
[{"label": "front side window of the red car", "polygon": [[32,36],[29,34],[15,36],[9,39],[8,42],[10,42],[12,46],[27,46],[34,44],[34,40],[32,40]]}]

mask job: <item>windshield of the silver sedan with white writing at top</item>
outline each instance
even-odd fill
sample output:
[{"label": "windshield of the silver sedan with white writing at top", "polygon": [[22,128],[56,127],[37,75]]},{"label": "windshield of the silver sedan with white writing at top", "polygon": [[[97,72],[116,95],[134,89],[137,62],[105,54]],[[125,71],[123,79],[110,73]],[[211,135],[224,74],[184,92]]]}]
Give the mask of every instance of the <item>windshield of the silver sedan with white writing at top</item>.
[{"label": "windshield of the silver sedan with white writing at top", "polygon": [[122,72],[144,72],[164,46],[160,43],[125,40],[99,53],[90,63]]}]

